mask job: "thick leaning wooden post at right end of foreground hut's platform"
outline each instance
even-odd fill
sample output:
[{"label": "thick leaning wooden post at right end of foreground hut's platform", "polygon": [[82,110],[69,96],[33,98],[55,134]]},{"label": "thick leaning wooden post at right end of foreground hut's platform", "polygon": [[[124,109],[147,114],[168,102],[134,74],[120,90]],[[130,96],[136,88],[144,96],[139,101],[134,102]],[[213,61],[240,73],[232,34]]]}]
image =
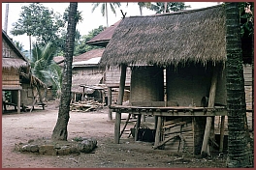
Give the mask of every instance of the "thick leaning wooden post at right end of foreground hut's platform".
[{"label": "thick leaning wooden post at right end of foreground hut's platform", "polygon": [[[216,66],[213,69],[213,74],[212,74],[212,79],[211,79],[211,85],[210,85],[209,96],[208,96],[208,107],[213,107],[214,106],[216,87],[217,87],[217,78],[218,78],[218,69],[217,69],[217,66]],[[212,118],[208,117],[207,118],[206,129],[205,129],[204,140],[203,140],[203,145],[202,145],[202,150],[201,150],[201,155],[202,156],[208,156],[209,155],[207,150],[208,150],[208,137],[209,137],[211,123],[212,123]]]}]

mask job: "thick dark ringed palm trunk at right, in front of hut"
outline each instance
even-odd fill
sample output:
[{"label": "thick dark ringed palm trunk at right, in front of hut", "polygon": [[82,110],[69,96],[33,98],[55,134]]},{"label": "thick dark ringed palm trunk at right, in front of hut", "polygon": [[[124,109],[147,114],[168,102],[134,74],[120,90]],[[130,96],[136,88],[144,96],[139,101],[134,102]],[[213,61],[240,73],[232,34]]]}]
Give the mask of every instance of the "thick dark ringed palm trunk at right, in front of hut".
[{"label": "thick dark ringed palm trunk at right, in front of hut", "polygon": [[246,106],[240,44],[240,13],[238,3],[226,4],[226,88],[228,109],[229,168],[248,167],[248,138],[245,129]]}]

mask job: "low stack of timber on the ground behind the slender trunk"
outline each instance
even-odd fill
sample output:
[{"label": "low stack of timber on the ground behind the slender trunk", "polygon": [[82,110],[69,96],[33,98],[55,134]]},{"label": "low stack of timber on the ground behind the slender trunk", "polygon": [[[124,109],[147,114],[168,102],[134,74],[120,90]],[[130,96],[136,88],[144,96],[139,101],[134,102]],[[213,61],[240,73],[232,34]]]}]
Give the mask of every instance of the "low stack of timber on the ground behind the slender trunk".
[{"label": "low stack of timber on the ground behind the slender trunk", "polygon": [[103,107],[103,104],[94,99],[78,101],[70,104],[70,110],[75,112],[95,111],[98,108],[102,108],[102,107]]}]

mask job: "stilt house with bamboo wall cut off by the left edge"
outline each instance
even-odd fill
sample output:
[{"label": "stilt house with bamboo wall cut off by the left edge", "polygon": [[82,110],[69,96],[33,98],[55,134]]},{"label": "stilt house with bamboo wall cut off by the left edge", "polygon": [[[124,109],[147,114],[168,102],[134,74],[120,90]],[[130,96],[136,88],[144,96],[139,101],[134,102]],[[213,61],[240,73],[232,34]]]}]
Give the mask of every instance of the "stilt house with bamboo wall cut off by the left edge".
[{"label": "stilt house with bamboo wall cut off by the left edge", "polygon": [[[38,87],[38,88],[36,88]],[[16,48],[14,42],[2,31],[2,93],[3,111],[14,106],[17,113],[36,104],[39,89],[45,84],[30,73],[30,64]],[[42,99],[37,102],[43,104]]]}]

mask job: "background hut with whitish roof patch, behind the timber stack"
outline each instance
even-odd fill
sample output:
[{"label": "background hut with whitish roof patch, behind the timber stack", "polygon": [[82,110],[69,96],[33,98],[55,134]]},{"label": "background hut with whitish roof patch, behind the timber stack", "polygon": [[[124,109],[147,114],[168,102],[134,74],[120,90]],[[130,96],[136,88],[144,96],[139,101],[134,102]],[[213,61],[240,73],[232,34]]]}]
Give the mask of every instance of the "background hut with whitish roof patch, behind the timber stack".
[{"label": "background hut with whitish roof patch, behind the timber stack", "polygon": [[92,49],[73,58],[72,94],[73,100],[96,99],[104,102],[102,84],[103,68],[99,67],[104,48]]}]

